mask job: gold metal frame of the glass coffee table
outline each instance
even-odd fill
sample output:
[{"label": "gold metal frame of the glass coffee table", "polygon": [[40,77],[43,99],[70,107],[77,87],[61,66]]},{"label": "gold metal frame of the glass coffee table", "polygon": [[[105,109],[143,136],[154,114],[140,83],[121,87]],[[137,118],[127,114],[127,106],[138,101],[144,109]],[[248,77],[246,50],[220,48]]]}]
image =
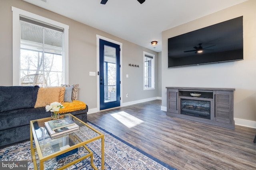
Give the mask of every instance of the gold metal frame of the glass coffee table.
[{"label": "gold metal frame of the glass coffee table", "polygon": [[[36,120],[32,120],[30,121],[30,149],[31,149],[31,155],[32,155],[32,161],[34,163],[34,169],[37,170],[37,164],[36,164],[36,156],[35,156],[35,151],[37,151],[37,154],[38,154],[38,159],[39,159],[39,166],[40,166],[40,170],[44,170],[44,161],[50,159],[50,158],[54,158],[60,154],[64,154],[70,150],[73,150],[73,149],[76,149],[78,147],[84,147],[89,153],[86,154],[85,156],[82,156],[72,162],[69,162],[68,164],[64,164],[64,166],[58,168],[57,170],[62,170],[62,169],[65,169],[89,156],[91,156],[90,158],[90,162],[91,162],[91,166],[92,168],[94,168],[95,170],[97,170],[96,166],[93,164],[93,153],[90,149],[88,149],[88,147],[86,147],[86,144],[92,142],[92,141],[96,141],[97,139],[101,139],[101,169],[104,170],[104,134],[100,133],[99,131],[97,131],[96,129],[94,129],[93,127],[90,127],[89,125],[87,125],[86,123],[84,123],[83,121],[81,121],[80,119],[76,118],[75,116],[71,115],[71,114],[65,114],[65,115],[62,115],[63,117],[70,117],[72,118],[77,124],[79,124],[79,132],[82,132],[84,133],[84,131],[81,129],[82,126],[86,126],[90,129],[90,131],[94,131],[95,132],[95,137],[92,137],[92,138],[88,138],[87,136],[87,140],[81,140],[77,135],[76,133],[78,133],[78,130],[75,130],[75,131],[71,131],[69,133],[66,133],[66,134],[62,134],[60,135],[60,138],[62,137],[69,137],[71,140],[73,141],[76,141],[77,144],[74,144],[66,149],[63,149],[63,150],[59,150],[57,152],[53,152],[51,154],[48,154],[46,156],[43,156],[43,153],[42,153],[42,150],[41,150],[41,147],[44,148],[44,147],[50,147],[52,146],[53,144],[51,143],[45,143],[45,144],[40,144],[39,140],[38,140],[38,137],[36,135],[36,129],[34,127],[34,123],[40,123],[40,127],[44,128],[44,122],[46,121],[50,121],[50,117],[47,117],[47,118],[43,118],[43,119],[36,119]],[[44,128],[45,131],[46,128]],[[34,143],[35,143],[35,146],[33,148],[33,138],[34,138]],[[53,137],[51,138],[50,135],[46,135],[45,136],[46,139],[48,139],[48,141],[54,141],[54,139],[58,139],[58,137]],[[42,140],[41,140],[42,141]],[[56,143],[56,141],[55,141]],[[57,142],[58,144],[58,142]]]}]

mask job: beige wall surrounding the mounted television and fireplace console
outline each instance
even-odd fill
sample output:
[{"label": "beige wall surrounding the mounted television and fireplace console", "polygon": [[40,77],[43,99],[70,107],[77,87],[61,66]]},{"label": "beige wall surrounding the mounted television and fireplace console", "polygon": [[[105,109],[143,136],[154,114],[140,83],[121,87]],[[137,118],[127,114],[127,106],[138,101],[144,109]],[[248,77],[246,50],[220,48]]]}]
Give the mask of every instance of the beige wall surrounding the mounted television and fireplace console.
[{"label": "beige wall surrounding the mounted television and fireplace console", "polygon": [[[168,38],[244,16],[244,60],[168,69]],[[235,88],[234,118],[256,127],[256,0],[226,8],[162,32],[162,107],[166,87]]]}]

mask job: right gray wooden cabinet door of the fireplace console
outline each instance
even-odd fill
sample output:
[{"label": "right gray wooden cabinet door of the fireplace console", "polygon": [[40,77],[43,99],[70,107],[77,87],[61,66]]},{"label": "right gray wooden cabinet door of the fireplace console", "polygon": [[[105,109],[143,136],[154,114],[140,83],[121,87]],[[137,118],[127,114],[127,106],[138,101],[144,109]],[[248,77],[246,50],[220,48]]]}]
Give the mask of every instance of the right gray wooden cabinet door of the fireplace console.
[{"label": "right gray wooden cabinet door of the fireplace console", "polygon": [[215,91],[215,121],[234,124],[234,92]]}]

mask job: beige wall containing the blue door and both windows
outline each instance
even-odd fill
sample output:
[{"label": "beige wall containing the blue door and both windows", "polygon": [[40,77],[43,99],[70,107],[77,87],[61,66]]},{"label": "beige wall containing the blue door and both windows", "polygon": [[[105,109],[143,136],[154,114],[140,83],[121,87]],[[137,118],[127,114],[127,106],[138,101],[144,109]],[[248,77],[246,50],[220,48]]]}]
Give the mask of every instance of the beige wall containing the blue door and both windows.
[{"label": "beige wall containing the blue door and both windows", "polygon": [[[96,35],[122,43],[122,103],[158,97],[158,53],[22,0],[0,0],[0,86],[12,86],[12,6],[69,25],[69,84],[79,84],[78,99],[85,102],[89,109],[97,108],[98,76],[89,76],[90,71],[98,71]],[[156,56],[155,90],[143,90],[143,51]],[[129,63],[139,64],[140,67],[128,66]]]}]

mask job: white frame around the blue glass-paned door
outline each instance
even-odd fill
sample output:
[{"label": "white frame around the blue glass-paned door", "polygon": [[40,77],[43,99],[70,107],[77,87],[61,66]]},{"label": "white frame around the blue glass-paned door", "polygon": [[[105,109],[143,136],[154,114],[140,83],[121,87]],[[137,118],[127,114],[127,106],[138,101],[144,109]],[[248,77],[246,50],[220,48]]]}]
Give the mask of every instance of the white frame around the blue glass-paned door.
[{"label": "white frame around the blue glass-paned door", "polygon": [[120,45],[120,106],[122,106],[123,104],[123,78],[122,78],[122,45],[123,43],[120,43],[118,41],[114,41],[112,39],[106,38],[106,37],[102,37],[100,35],[96,35],[96,39],[97,39],[97,112],[100,111],[100,78],[98,76],[98,72],[100,71],[100,39],[103,39],[105,41],[111,42],[111,43],[115,43],[117,45]]}]

